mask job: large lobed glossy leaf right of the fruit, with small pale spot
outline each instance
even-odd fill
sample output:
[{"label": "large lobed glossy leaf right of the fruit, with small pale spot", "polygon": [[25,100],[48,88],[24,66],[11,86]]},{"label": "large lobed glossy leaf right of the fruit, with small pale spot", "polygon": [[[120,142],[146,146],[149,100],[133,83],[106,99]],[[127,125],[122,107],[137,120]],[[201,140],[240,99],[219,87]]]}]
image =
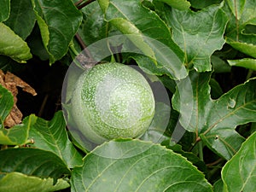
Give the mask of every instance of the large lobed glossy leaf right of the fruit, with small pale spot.
[{"label": "large lobed glossy leaf right of the fruit, with small pale spot", "polygon": [[[195,132],[209,148],[230,160],[244,141],[236,126],[256,121],[256,79],[212,100],[210,78],[211,73],[191,72],[177,84],[172,105],[181,113],[180,123],[187,131]],[[193,93],[185,89],[188,84]]]}]

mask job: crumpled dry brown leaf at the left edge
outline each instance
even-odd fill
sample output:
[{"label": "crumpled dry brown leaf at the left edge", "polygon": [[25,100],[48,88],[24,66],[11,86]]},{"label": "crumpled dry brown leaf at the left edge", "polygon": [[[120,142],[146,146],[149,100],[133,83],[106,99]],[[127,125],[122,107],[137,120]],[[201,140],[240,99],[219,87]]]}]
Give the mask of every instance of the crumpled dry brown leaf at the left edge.
[{"label": "crumpled dry brown leaf at the left edge", "polygon": [[4,125],[7,127],[12,127],[14,125],[20,124],[22,119],[22,113],[20,109],[17,107],[17,95],[18,89],[17,87],[22,88],[22,90],[32,94],[32,96],[36,96],[37,92],[34,90],[29,84],[26,84],[25,81],[15,76],[13,73],[7,72],[6,74],[0,69],[0,84],[3,85],[7,90],[9,90],[14,96],[14,107],[11,109],[9,115],[4,120]]}]

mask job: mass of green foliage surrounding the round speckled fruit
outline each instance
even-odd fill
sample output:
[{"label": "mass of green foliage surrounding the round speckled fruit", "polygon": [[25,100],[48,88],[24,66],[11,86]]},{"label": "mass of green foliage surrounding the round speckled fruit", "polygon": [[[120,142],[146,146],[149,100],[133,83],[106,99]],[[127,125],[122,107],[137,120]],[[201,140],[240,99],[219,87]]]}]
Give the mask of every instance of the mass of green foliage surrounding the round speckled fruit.
[{"label": "mass of green foliage surrounding the round speckled fruit", "polygon": [[[18,94],[25,117],[9,128],[15,97],[0,85],[0,192],[255,191],[255,7],[255,0],[1,1],[1,69],[44,86],[37,110],[31,101],[38,97]],[[104,61],[136,63],[157,76],[171,108],[156,103],[162,116],[145,137],[88,152],[55,109],[56,84],[82,49],[90,57],[88,45],[121,34],[140,52],[119,53],[119,39]],[[35,68],[47,71],[44,79]],[[45,108],[47,99],[53,107]],[[155,143],[148,138],[158,138],[168,110]]]}]

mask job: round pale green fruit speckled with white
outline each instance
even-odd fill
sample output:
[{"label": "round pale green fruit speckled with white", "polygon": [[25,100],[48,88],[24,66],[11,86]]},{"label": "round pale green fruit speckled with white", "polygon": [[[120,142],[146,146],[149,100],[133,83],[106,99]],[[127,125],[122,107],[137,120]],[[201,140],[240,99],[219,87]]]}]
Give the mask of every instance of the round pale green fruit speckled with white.
[{"label": "round pale green fruit speckled with white", "polygon": [[140,137],[154,117],[154,95],[134,68],[108,62],[84,71],[75,84],[72,116],[90,142]]}]

